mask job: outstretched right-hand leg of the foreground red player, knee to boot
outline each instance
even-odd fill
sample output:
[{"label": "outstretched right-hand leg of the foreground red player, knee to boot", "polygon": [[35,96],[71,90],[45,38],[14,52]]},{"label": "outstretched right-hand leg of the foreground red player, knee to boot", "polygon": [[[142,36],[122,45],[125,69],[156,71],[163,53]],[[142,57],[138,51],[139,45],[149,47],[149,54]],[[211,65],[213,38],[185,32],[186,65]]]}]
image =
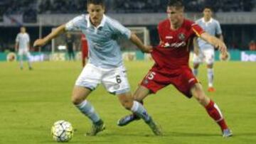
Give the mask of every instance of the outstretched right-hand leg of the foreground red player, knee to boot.
[{"label": "outstretched right-hand leg of the foreground red player, knee to boot", "polygon": [[217,104],[213,100],[211,100],[206,94],[203,92],[203,88],[201,84],[196,83],[191,88],[191,94],[198,100],[198,102],[206,108],[209,116],[213,118],[213,120],[218,123],[223,132],[223,137],[229,137],[232,135],[232,132],[228,128],[227,124],[225,123],[225,119],[223,114],[221,113],[220,109],[218,108]]}]

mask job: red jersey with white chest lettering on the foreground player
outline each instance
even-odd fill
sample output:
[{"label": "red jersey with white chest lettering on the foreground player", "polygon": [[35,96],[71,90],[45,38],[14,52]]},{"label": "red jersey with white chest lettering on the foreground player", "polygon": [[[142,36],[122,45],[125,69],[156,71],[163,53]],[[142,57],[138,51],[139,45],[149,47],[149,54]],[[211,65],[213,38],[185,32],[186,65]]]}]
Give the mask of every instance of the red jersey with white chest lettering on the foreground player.
[{"label": "red jersey with white chest lettering on the foreground player", "polygon": [[159,23],[158,31],[161,43],[151,52],[156,65],[166,70],[188,67],[193,38],[204,33],[203,28],[184,19],[180,28],[171,30],[171,21],[166,19]]}]

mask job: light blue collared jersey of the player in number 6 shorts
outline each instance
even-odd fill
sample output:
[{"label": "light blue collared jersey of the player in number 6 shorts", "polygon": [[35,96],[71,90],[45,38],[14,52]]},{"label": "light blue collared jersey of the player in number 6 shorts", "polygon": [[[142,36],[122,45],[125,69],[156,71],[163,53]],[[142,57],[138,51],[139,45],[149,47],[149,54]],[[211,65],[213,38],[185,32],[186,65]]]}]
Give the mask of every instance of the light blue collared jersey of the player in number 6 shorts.
[{"label": "light blue collared jersey of the player in number 6 shorts", "polygon": [[88,62],[97,67],[114,68],[123,65],[122,52],[117,41],[131,37],[131,31],[114,19],[103,15],[100,25],[95,28],[89,15],[73,18],[65,25],[67,31],[80,30],[86,35],[89,47]]}]

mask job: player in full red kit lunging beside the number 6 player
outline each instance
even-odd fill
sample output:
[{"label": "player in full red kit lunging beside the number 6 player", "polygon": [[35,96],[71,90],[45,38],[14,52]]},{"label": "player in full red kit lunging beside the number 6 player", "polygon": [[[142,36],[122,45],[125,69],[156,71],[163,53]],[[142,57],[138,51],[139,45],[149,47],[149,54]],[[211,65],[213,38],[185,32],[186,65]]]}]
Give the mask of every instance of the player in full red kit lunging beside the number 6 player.
[{"label": "player in full red kit lunging beside the number 6 player", "polygon": [[[139,88],[134,94],[134,99],[142,101],[146,96],[155,94],[169,84],[173,84],[179,92],[191,98],[192,96],[206,109],[209,116],[218,123],[223,137],[229,137],[232,132],[225,123],[223,114],[217,104],[203,92],[201,84],[194,77],[188,66],[189,48],[193,38],[200,37],[226,55],[225,44],[183,16],[184,6],[181,0],[169,0],[167,7],[168,17],[158,26],[160,44],[154,48],[151,55],[155,61],[154,66],[146,74]],[[119,126],[125,126],[131,121],[139,119],[132,114],[118,121]]]}]

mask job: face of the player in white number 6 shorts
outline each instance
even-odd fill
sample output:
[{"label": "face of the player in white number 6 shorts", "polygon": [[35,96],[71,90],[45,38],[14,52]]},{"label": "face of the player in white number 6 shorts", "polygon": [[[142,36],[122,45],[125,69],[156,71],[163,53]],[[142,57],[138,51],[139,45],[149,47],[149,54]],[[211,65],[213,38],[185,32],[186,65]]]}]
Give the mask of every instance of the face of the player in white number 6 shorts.
[{"label": "face of the player in white number 6 shorts", "polygon": [[94,26],[98,26],[102,21],[103,14],[105,13],[105,8],[102,5],[89,4],[87,6],[87,11],[90,15],[90,21]]}]

